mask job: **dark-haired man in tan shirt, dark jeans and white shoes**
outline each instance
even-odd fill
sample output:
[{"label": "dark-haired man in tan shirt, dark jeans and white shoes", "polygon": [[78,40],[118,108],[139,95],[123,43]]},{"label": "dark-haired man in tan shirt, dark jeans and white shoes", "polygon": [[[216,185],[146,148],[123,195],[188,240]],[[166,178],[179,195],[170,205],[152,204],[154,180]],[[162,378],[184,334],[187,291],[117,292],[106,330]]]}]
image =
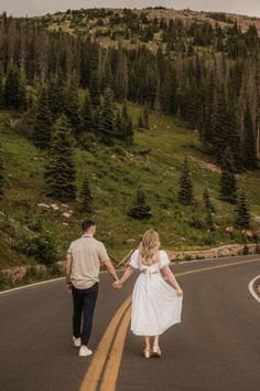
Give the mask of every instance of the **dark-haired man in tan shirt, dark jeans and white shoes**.
[{"label": "dark-haired man in tan shirt, dark jeans and white shoes", "polygon": [[74,346],[80,347],[79,356],[90,356],[93,351],[88,349],[88,341],[98,296],[100,264],[105,264],[115,281],[118,281],[118,276],[105,245],[94,237],[95,222],[85,220],[82,228],[82,237],[72,242],[67,251],[66,284],[73,295]]}]

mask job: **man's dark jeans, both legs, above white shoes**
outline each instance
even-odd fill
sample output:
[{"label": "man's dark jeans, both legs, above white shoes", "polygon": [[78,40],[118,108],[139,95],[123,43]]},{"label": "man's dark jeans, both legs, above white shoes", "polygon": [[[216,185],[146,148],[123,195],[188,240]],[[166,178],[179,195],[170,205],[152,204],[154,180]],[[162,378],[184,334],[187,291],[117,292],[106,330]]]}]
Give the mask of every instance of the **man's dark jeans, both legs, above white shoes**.
[{"label": "man's dark jeans, both legs, above white shoes", "polygon": [[[73,335],[82,337],[82,345],[88,345],[93,328],[93,316],[98,296],[98,283],[87,289],[77,289],[72,286],[73,293]],[[82,327],[83,318],[83,327]]]}]

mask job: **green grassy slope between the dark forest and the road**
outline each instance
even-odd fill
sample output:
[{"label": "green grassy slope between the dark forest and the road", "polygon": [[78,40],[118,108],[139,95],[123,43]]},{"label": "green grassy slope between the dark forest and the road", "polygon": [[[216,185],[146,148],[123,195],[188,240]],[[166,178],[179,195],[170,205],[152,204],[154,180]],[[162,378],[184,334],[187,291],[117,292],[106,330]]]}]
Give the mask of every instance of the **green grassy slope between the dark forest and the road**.
[{"label": "green grassy slope between the dark forest and the road", "polygon": [[[141,109],[130,106],[134,121]],[[34,263],[11,247],[19,233],[29,229],[36,231],[41,225],[43,231],[51,232],[55,237],[59,257],[64,258],[69,242],[80,234],[80,221],[87,218],[79,211],[77,201],[67,204],[74,212],[71,219],[62,216],[66,207],[59,207],[58,211],[39,208],[37,203],[55,202],[45,197],[45,156],[24,137],[24,131],[10,128],[12,116],[12,113],[0,112],[0,136],[7,173],[7,190],[1,208],[6,218],[0,215],[0,267]],[[94,196],[94,213],[89,218],[97,222],[98,239],[106,243],[116,260],[134,247],[140,235],[149,228],[159,230],[162,245],[167,249],[241,242],[239,232],[231,237],[225,232],[225,228],[234,223],[234,207],[219,201],[219,172],[210,165],[210,156],[199,150],[196,131],[187,129],[177,118],[155,114],[150,116],[150,124],[149,130],[136,130],[134,147],[129,150],[119,146],[109,149],[91,145],[89,150],[77,149],[75,152],[77,186],[80,187],[86,175],[89,178]],[[197,203],[194,208],[182,207],[176,200],[180,168],[185,155],[189,158],[195,186]],[[257,219],[260,216],[259,170],[239,176],[238,182],[246,190],[251,212]],[[191,226],[193,215],[204,215],[202,194],[206,186],[212,191],[217,210],[215,222],[218,229],[214,233]],[[127,215],[138,189],[145,192],[152,208],[152,218],[147,222]],[[258,230],[256,219],[253,225]]]}]

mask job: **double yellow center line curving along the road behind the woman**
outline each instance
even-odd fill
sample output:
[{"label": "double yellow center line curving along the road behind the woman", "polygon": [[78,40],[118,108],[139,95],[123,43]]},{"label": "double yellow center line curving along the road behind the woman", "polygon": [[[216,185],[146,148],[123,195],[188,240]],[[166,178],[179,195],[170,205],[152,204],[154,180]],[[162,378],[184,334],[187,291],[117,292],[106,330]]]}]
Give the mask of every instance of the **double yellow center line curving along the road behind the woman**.
[{"label": "double yellow center line curving along the road behind the woman", "polygon": [[[260,258],[232,262],[224,265],[199,267],[193,271],[176,273],[175,276],[180,277],[187,274],[203,273],[216,268],[236,266],[256,261],[260,261]],[[79,391],[116,390],[124,340],[131,318],[131,299],[132,296],[129,296],[112,317],[105,335],[102,336],[101,341],[98,345],[98,349],[91,360],[88,371],[83,379]]]}]

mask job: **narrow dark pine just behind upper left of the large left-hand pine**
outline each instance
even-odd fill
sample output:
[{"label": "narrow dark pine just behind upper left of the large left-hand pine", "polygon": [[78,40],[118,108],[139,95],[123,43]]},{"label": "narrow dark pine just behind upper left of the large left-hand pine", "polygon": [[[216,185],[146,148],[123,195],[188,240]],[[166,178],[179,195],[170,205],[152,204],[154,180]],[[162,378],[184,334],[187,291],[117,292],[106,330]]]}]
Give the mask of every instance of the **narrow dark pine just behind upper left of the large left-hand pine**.
[{"label": "narrow dark pine just behind upper left of the large left-hand pine", "polygon": [[52,118],[48,109],[47,92],[45,87],[41,88],[33,127],[33,142],[37,148],[47,149],[51,141]]}]

